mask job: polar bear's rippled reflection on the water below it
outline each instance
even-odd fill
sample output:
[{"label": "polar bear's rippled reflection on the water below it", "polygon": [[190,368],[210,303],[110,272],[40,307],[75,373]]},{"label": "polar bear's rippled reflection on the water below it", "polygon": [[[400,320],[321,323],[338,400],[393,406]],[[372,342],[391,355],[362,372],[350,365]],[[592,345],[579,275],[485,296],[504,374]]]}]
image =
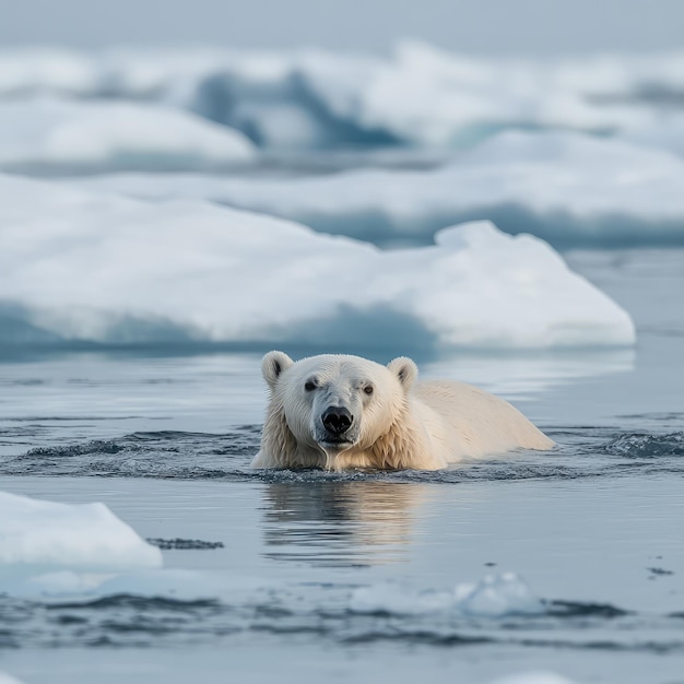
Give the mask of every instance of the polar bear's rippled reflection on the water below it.
[{"label": "polar bear's rippled reflection on the water below it", "polygon": [[400,561],[420,508],[438,490],[359,480],[271,483],[264,490],[266,555],[331,566]]}]

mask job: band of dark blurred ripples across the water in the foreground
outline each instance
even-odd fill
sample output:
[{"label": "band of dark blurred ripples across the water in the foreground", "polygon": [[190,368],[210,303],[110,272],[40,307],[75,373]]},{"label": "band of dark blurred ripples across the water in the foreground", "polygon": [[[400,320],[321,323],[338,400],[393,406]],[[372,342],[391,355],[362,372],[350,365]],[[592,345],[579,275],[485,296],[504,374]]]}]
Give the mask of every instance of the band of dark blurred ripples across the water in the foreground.
[{"label": "band of dark blurred ripples across the water in the foreground", "polygon": [[[385,591],[385,593],[382,593]],[[225,600],[129,593],[43,603],[0,598],[0,649],[158,647],[225,642],[240,635],[304,637],[309,644],[485,644],[519,647],[684,652],[681,614],[642,615],[610,604],[529,599],[524,610],[469,612],[460,589],[413,591],[380,586],[293,586]],[[359,592],[380,606],[359,610]],[[481,597],[482,598],[482,597]],[[495,597],[496,599],[496,597]],[[505,598],[504,598],[505,600]],[[526,598],[528,601],[528,598]],[[377,602],[377,601],[376,601]],[[409,603],[420,610],[406,610]],[[494,601],[496,602],[496,601]],[[413,606],[415,609],[415,605]],[[515,609],[515,605],[514,605]],[[529,610],[528,610],[529,609]],[[649,634],[649,639],[644,637]],[[658,635],[658,638],[653,638]]]}]

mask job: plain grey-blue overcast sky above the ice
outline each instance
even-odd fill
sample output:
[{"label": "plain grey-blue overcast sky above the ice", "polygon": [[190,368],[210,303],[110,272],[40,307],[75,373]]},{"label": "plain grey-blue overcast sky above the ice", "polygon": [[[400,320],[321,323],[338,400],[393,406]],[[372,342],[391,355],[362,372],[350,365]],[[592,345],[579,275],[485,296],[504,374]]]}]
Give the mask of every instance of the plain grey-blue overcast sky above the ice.
[{"label": "plain grey-blue overcast sky above the ice", "polygon": [[0,0],[0,45],[211,44],[465,52],[684,48],[684,0]]}]

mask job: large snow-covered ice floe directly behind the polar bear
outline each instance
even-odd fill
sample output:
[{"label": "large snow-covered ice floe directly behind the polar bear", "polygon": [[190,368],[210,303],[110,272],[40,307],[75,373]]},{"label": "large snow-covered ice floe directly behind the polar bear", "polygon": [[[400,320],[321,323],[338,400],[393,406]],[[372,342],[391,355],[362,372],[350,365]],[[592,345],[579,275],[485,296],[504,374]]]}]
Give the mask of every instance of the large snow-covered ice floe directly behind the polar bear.
[{"label": "large snow-covered ice floe directly behind the polar bear", "polygon": [[630,345],[629,316],[545,243],[487,222],[381,251],[197,201],[0,177],[4,343]]}]

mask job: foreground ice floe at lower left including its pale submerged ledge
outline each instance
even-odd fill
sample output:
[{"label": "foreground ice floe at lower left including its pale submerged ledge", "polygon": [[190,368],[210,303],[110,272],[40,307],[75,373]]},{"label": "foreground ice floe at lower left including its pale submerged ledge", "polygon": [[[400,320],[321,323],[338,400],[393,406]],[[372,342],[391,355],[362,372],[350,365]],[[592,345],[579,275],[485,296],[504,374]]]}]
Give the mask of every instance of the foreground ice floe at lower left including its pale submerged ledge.
[{"label": "foreground ice floe at lower left including its pale submerged ledge", "polygon": [[0,595],[235,600],[263,586],[253,578],[226,580],[162,565],[162,552],[104,504],[62,504],[0,492]]}]

